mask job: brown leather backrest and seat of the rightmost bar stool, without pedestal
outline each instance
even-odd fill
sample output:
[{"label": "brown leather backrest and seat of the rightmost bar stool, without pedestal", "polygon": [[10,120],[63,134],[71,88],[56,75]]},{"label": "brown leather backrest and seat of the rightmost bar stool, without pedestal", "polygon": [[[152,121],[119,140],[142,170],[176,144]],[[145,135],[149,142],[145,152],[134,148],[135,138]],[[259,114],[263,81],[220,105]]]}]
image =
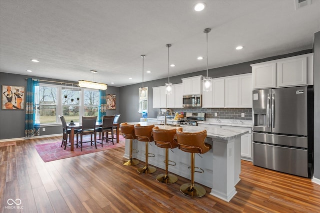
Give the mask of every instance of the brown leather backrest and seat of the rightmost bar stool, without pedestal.
[{"label": "brown leather backrest and seat of the rightmost bar stool, without pedestal", "polygon": [[182,132],[182,128],[176,130],[176,139],[179,145],[179,149],[184,152],[190,153],[206,153],[210,150],[209,146],[206,146],[204,140],[206,138],[206,130],[200,132]]}]

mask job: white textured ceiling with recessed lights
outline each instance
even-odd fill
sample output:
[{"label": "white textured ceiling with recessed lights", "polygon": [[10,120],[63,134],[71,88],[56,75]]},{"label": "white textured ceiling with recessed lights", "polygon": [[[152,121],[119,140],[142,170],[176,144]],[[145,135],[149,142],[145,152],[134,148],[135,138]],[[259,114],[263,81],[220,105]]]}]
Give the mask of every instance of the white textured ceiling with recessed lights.
[{"label": "white textured ceiling with recessed lights", "polygon": [[196,2],[0,0],[0,72],[124,86],[142,81],[141,54],[144,81],[166,78],[167,43],[170,76],[205,70],[207,27],[209,69],[310,49],[320,30],[320,0],[203,0],[202,12]]}]

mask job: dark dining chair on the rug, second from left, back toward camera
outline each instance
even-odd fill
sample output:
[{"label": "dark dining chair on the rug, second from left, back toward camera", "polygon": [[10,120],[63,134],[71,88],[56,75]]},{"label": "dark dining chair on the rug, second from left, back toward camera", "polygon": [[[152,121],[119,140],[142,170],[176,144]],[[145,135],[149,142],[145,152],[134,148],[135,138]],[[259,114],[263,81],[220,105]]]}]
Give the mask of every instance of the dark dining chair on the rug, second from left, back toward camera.
[{"label": "dark dining chair on the rug, second from left, back toward camera", "polygon": [[[90,142],[92,146],[92,135],[94,136],[94,146],[96,149],[96,131],[95,131],[95,123],[97,116],[82,116],[82,129],[76,131],[76,148],[81,147],[82,151],[82,143]],[[80,135],[80,145],[78,141],[78,136]],[[90,135],[91,140],[83,142],[82,136]]]}]

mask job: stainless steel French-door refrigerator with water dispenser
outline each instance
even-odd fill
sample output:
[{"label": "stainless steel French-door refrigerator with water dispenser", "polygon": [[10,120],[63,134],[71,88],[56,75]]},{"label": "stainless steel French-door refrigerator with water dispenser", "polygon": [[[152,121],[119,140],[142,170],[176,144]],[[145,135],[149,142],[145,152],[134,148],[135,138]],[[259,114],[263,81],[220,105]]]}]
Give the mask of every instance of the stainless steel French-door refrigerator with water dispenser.
[{"label": "stainless steel French-door refrigerator with water dispenser", "polygon": [[313,173],[313,88],[252,92],[253,165],[292,175]]}]

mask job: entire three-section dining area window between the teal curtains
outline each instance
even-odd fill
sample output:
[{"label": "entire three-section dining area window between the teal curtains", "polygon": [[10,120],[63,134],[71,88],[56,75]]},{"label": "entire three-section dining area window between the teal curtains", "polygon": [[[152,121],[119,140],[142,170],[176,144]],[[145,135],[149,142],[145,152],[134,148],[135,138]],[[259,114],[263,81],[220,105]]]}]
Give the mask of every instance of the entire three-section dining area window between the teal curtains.
[{"label": "entire three-section dining area window between the teal curtains", "polygon": [[58,115],[63,115],[66,122],[80,122],[81,116],[98,115],[98,90],[40,83],[35,99],[36,120],[40,125],[59,124]]}]

